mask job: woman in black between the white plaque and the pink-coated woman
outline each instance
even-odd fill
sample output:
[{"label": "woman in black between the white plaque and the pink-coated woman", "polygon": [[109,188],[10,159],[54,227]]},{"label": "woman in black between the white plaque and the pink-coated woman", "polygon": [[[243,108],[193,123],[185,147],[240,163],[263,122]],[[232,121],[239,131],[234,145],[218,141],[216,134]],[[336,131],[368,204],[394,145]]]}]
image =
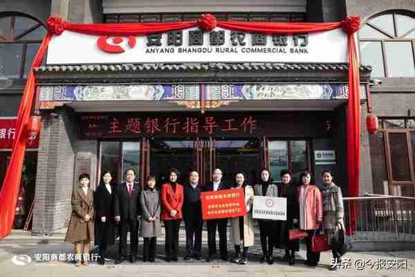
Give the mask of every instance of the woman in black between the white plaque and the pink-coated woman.
[{"label": "woman in black between the white plaque and the pink-coated woman", "polygon": [[[287,220],[277,221],[277,247],[285,249],[282,261],[290,265],[295,263],[295,251],[299,251],[299,241],[288,239],[288,230],[298,228],[299,202],[297,186],[293,184],[293,175],[288,170],[281,171],[282,184],[278,187],[278,197],[287,199]],[[291,253],[290,253],[291,252]]]}]

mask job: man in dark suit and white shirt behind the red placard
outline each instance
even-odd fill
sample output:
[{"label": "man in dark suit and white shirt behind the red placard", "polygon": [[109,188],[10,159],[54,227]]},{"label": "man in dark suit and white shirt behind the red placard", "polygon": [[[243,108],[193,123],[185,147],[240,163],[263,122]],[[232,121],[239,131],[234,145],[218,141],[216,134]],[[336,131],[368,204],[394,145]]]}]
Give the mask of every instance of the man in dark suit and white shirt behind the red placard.
[{"label": "man in dark suit and white shirt behind the red placard", "polygon": [[[216,191],[216,190],[226,190],[229,188],[226,184],[223,184],[222,179],[222,170],[216,168],[212,175],[213,181],[205,184],[203,191]],[[208,224],[208,247],[209,247],[209,256],[207,261],[210,262],[214,260],[216,255],[216,226],[219,231],[219,250],[221,252],[221,259],[228,260],[228,248],[226,240],[226,228],[228,226],[228,218],[221,218],[218,220],[207,220]]]}]

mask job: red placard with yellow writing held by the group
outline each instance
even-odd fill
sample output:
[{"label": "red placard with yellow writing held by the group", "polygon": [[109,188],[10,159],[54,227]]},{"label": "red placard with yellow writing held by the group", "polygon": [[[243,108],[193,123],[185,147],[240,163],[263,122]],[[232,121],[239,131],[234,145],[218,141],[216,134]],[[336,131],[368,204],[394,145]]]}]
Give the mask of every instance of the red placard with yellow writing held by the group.
[{"label": "red placard with yellow writing held by the group", "polygon": [[201,193],[203,220],[238,217],[246,214],[243,188]]}]

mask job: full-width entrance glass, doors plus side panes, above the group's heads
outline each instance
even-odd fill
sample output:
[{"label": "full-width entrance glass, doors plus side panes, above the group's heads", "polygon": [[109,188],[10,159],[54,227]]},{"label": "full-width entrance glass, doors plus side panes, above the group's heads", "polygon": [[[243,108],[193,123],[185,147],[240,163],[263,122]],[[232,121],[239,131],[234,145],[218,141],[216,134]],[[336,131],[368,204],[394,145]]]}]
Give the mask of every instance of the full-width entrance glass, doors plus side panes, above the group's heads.
[{"label": "full-width entrance glass, doors plus side panes, above the group's heads", "polygon": [[169,168],[181,172],[180,184],[187,183],[190,169],[199,172],[200,184],[211,181],[215,168],[221,168],[223,181],[234,183],[234,174],[243,172],[248,184],[257,184],[259,170],[269,168],[273,181],[280,182],[281,170],[299,172],[311,168],[310,145],[299,139],[147,139],[139,141],[102,141],[100,166],[113,172],[114,183],[124,181],[127,168],[136,170],[136,181],[144,186],[145,178],[155,175],[158,186],[167,181]]}]

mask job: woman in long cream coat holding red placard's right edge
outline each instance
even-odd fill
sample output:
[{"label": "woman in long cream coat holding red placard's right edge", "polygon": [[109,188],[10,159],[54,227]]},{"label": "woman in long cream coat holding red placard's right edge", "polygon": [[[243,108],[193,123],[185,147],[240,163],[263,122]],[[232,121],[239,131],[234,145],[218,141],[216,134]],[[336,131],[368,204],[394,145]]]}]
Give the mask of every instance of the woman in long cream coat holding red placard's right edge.
[{"label": "woman in long cream coat holding red placard's right edge", "polygon": [[[252,189],[252,186],[246,184],[245,176],[241,172],[235,175],[235,181],[236,183],[233,188],[243,188],[244,190],[246,214],[240,217],[233,217],[230,222],[232,228],[232,242],[235,246],[235,256],[231,261],[239,263],[240,265],[246,265],[248,263],[246,257],[248,247],[254,245],[254,222],[252,220],[254,190]],[[242,256],[241,245],[243,247]]]}]

